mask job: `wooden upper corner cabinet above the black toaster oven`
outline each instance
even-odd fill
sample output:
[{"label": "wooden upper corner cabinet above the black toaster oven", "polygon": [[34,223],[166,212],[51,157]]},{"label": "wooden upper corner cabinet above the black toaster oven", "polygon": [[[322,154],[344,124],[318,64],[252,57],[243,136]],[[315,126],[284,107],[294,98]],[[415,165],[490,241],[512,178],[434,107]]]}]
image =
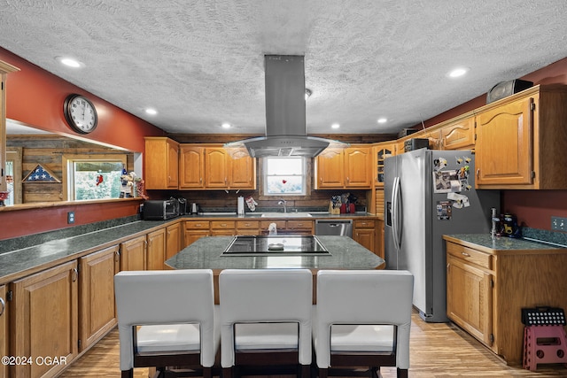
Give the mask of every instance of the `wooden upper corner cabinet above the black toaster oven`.
[{"label": "wooden upper corner cabinet above the black toaster oven", "polygon": [[146,137],[144,165],[145,189],[177,189],[179,143],[164,137]]}]

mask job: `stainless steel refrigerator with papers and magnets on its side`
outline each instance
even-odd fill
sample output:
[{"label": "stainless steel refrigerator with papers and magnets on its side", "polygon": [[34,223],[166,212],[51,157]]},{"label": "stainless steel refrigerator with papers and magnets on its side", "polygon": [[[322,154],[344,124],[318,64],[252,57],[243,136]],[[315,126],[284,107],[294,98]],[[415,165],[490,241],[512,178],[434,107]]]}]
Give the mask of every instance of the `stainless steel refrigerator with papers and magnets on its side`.
[{"label": "stainless steel refrigerator with papers and magnets on its side", "polygon": [[[470,150],[413,150],[384,160],[386,269],[414,274],[414,306],[425,321],[447,321],[442,235],[490,233],[500,191],[475,190]],[[464,295],[464,293],[463,293]]]}]

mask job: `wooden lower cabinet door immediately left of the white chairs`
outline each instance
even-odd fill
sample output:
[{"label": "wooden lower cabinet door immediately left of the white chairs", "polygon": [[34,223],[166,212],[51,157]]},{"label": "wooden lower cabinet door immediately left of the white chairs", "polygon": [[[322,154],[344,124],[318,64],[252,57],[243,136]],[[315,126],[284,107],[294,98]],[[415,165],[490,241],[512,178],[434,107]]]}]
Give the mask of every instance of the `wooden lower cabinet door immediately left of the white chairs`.
[{"label": "wooden lower cabinet door immediately left of the white chairs", "polygon": [[116,325],[114,274],[120,271],[115,245],[79,258],[79,351],[88,349]]}]

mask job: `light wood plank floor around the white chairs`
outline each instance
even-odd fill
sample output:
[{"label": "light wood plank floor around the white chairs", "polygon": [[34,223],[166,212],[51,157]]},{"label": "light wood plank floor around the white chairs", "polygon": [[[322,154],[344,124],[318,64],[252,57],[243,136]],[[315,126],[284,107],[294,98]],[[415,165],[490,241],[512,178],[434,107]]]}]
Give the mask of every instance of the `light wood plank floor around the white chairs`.
[{"label": "light wood plank floor around the white chairs", "polygon": [[[426,323],[414,313],[410,342],[410,378],[469,377],[567,377],[567,367],[544,365],[537,372],[506,366],[482,344],[452,323]],[[118,330],[105,336],[81,359],[60,375],[71,377],[120,377]],[[383,367],[383,378],[394,378],[395,369]],[[136,378],[148,371],[135,369]]]}]

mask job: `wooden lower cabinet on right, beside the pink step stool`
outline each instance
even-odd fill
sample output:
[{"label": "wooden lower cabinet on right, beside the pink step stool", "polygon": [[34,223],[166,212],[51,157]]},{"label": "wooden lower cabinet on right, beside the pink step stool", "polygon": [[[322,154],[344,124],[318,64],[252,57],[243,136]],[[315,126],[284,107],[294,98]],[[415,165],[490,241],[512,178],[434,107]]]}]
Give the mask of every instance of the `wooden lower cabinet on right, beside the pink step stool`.
[{"label": "wooden lower cabinet on right, beside the pink step stool", "polygon": [[447,317],[507,364],[522,365],[522,308],[567,308],[567,250],[493,250],[444,238]]}]

